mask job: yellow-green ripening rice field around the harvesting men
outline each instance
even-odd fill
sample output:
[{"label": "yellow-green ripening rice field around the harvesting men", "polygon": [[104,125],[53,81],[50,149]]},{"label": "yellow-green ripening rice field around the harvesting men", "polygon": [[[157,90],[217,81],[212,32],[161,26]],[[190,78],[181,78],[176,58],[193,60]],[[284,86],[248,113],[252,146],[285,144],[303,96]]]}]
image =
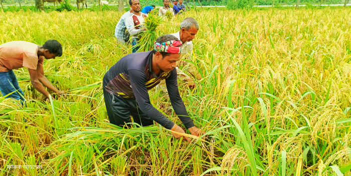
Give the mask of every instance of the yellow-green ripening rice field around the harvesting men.
[{"label": "yellow-green ripening rice field around the harvesting men", "polygon": [[[110,125],[102,78],[130,45],[117,44],[121,12],[0,12],[0,42],[57,39],[64,54],[44,71],[67,97],[45,101],[26,68],[14,70],[28,100],[0,97],[0,175],[351,175],[351,8],[194,10],[200,30],[179,82],[195,124],[192,143],[159,124]],[[150,101],[185,127],[167,94]],[[26,121],[24,121],[26,119]],[[188,132],[189,133],[189,132]],[[42,168],[8,168],[42,165]]]}]

